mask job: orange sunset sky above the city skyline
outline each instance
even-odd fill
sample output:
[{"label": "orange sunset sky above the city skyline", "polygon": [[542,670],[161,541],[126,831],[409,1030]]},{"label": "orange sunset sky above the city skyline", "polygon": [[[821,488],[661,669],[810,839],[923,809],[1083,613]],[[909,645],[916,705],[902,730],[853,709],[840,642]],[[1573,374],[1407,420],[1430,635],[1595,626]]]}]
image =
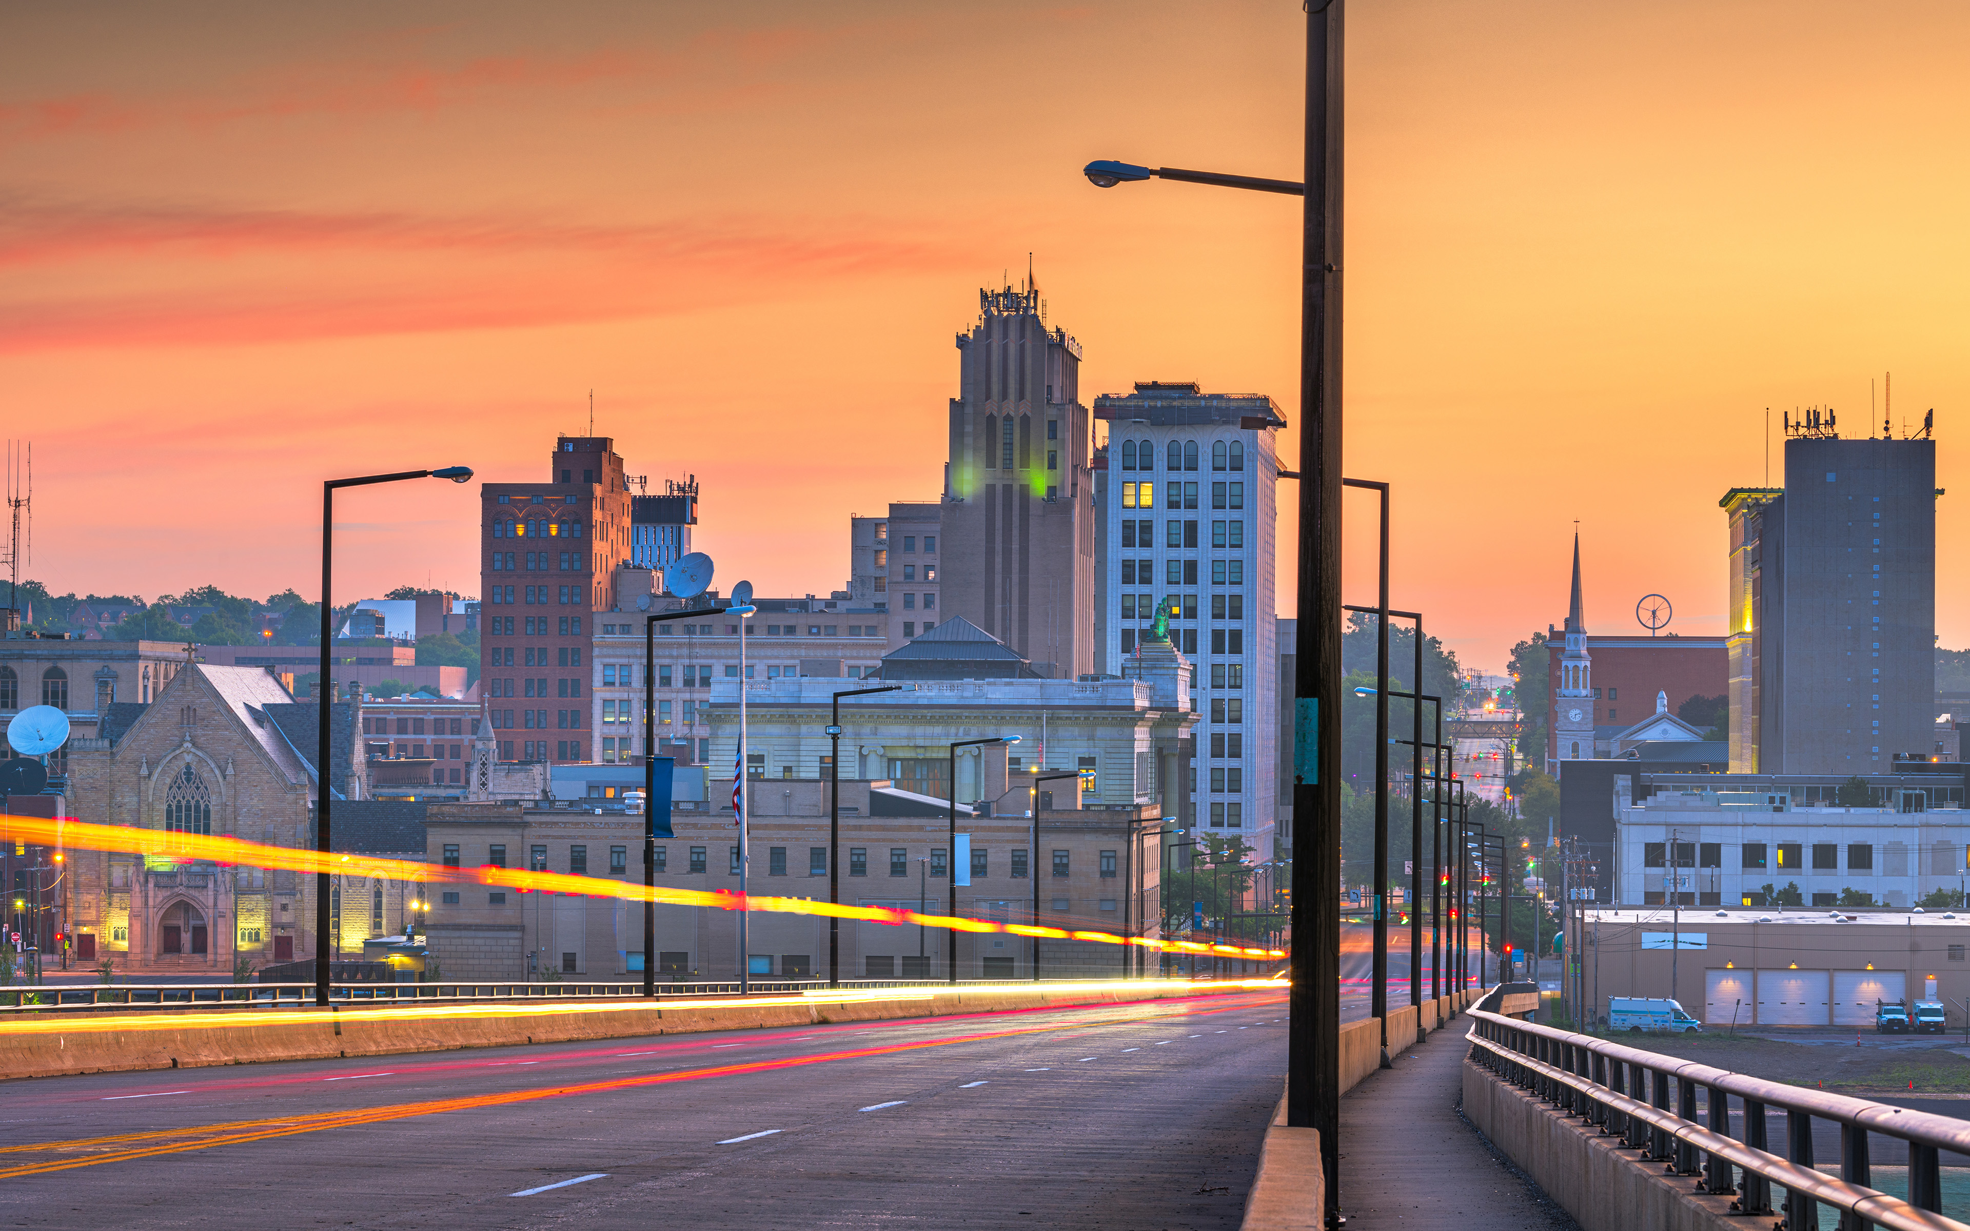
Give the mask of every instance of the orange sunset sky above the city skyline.
[{"label": "orange sunset sky above the city skyline", "polygon": [[[1674,630],[1720,632],[1716,502],[1763,481],[1765,408],[1864,433],[1891,370],[1897,427],[1937,410],[1937,624],[1970,640],[1970,6],[1347,22],[1347,473],[1395,483],[1399,607],[1497,670],[1564,616],[1578,520],[1592,630],[1661,591]],[[313,595],[321,479],[532,481],[593,388],[630,473],[697,475],[721,587],[827,593],[849,514],[938,496],[952,335],[1028,252],[1084,400],[1198,380],[1296,427],[1298,203],[1080,167],[1298,179],[1302,24],[1298,0],[12,6],[24,577]],[[1369,603],[1369,496],[1349,510]],[[471,488],[339,514],[339,599],[477,595]]]}]

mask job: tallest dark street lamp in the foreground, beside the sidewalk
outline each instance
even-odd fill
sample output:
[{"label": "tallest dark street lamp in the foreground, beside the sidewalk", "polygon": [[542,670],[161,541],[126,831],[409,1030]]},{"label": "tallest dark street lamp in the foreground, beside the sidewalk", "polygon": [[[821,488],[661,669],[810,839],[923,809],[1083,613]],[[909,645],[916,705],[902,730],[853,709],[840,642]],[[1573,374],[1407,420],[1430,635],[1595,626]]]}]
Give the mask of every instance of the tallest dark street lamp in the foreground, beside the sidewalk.
[{"label": "tallest dark street lamp in the foreground, beside the sidewalk", "polygon": [[[1286,1125],[1320,1131],[1328,1209],[1340,1186],[1340,717],[1342,709],[1342,69],[1346,0],[1306,6],[1306,169],[1302,183],[1089,163],[1097,187],[1184,179],[1302,197],[1300,534],[1292,758],[1292,991]],[[1300,851],[1300,847],[1306,847]]]}]

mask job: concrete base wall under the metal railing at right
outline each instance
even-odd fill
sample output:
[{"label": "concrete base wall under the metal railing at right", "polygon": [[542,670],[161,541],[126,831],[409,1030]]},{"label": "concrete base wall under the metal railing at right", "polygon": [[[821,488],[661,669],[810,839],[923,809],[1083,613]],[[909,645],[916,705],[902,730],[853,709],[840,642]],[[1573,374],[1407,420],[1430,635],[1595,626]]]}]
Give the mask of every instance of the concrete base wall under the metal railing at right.
[{"label": "concrete base wall under the metal railing at right", "polygon": [[[1556,1107],[1464,1062],[1464,1115],[1586,1231],[1741,1231],[1732,1198],[1692,1192],[1690,1176],[1619,1152]],[[1767,1215],[1769,1217],[1769,1215]]]}]

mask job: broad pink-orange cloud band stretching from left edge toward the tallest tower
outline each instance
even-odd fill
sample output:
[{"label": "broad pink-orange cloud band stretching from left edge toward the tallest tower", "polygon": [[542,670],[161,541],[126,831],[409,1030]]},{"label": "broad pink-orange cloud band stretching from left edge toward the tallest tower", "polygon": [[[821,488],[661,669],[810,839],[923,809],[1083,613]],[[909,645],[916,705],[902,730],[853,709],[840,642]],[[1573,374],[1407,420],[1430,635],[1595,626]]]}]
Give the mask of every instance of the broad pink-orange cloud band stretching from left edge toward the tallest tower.
[{"label": "broad pink-orange cloud band stretching from left edge toward the tallest tower", "polygon": [[[569,223],[540,215],[0,203],[0,353],[506,329],[756,301],[827,278],[965,270],[879,219]],[[164,278],[110,280],[93,272]],[[169,286],[169,292],[122,290]],[[85,290],[77,290],[85,288]]]}]

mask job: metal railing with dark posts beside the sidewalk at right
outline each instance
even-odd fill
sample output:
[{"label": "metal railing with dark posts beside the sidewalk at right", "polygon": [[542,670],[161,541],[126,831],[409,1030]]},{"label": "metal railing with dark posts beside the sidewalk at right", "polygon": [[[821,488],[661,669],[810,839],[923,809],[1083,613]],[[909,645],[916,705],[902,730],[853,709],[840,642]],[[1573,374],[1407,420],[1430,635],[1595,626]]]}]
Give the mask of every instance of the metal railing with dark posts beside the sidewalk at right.
[{"label": "metal railing with dark posts beside the sidewalk at right", "polygon": [[[1785,1188],[1783,1227],[1818,1227],[1816,1203],[1840,1209],[1842,1231],[1868,1225],[1895,1231],[1962,1231],[1942,1215],[1942,1150],[1970,1154],[1970,1123],[1761,1081],[1706,1064],[1641,1052],[1615,1042],[1521,1022],[1472,1008],[1472,1060],[1501,1079],[1617,1136],[1619,1148],[1667,1164],[1682,1176],[1702,1176],[1698,1192],[1738,1194],[1732,1213],[1771,1213],[1771,1186]],[[1671,1089],[1674,1087],[1674,1089]],[[1696,1089],[1708,1091],[1704,1127]],[[1671,1103],[1674,1097],[1674,1103]],[[1743,1140],[1730,1134],[1730,1101],[1741,1101]],[[1785,1150],[1767,1150],[1765,1113],[1785,1111]],[[1840,1178],[1814,1170],[1812,1121],[1840,1125]],[[1909,1146],[1909,1198],[1870,1188],[1868,1134]],[[1698,1166],[1702,1154],[1702,1166]],[[1736,1172],[1743,1172],[1741,1184]]]}]

